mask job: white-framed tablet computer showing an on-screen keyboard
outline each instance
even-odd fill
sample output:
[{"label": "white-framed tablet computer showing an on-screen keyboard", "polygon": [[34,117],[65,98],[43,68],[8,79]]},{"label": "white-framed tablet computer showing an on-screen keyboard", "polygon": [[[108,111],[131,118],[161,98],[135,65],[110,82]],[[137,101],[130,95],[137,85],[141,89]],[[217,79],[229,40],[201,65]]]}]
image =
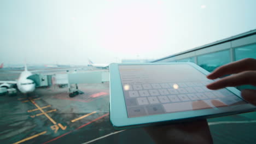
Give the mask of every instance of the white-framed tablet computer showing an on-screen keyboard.
[{"label": "white-framed tablet computer showing an on-screen keyboard", "polygon": [[252,111],[228,87],[206,88],[208,71],[194,63],[112,63],[110,122],[124,129]]}]

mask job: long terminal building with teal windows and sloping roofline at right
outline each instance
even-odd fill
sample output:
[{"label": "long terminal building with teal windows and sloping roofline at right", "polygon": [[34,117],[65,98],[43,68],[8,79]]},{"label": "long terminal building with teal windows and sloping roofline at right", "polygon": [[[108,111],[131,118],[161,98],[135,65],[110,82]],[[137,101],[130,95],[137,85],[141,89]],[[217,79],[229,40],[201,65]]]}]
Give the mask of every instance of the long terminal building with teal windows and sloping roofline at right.
[{"label": "long terminal building with teal windows and sloping roofline at right", "polygon": [[[211,44],[156,59],[153,62],[193,62],[211,72],[221,65],[243,58],[256,58],[256,29]],[[255,89],[253,86],[240,86],[237,88],[240,90],[245,88]]]}]

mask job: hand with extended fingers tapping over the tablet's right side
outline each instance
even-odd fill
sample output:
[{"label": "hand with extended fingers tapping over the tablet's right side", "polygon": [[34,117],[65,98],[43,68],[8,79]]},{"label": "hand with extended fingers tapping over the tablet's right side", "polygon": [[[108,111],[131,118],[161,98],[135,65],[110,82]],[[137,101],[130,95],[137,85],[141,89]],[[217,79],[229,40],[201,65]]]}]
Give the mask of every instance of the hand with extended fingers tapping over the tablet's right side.
[{"label": "hand with extended fingers tapping over the tablet's right side", "polygon": [[[233,75],[230,75],[233,74]],[[240,61],[232,62],[214,70],[208,79],[217,79],[226,76],[216,82],[207,85],[209,89],[220,89],[224,87],[235,87],[241,85],[256,86],[256,59],[246,58]],[[244,89],[241,93],[242,97],[249,103],[256,105],[256,90]]]}]

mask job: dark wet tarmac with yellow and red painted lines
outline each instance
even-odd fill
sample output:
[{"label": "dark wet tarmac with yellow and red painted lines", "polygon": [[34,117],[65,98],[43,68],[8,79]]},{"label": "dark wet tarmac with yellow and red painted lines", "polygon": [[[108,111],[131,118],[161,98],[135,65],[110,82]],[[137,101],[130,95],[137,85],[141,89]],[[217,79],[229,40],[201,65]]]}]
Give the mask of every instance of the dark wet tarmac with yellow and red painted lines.
[{"label": "dark wet tarmac with yellow and red painted lines", "polygon": [[[17,76],[19,73],[0,70],[0,80]],[[78,87],[84,94],[73,98],[69,98],[67,87],[55,85],[26,95],[0,96],[0,143],[154,143],[143,128],[112,127],[108,82]],[[214,143],[256,141],[255,112],[207,121]]]}]

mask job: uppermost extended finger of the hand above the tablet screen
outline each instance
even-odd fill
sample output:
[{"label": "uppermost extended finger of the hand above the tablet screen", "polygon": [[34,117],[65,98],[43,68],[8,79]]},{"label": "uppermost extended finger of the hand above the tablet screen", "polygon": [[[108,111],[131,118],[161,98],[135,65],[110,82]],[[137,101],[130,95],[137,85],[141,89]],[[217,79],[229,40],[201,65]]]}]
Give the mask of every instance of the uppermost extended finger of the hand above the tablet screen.
[{"label": "uppermost extended finger of the hand above the tablet screen", "polygon": [[214,70],[207,78],[213,80],[223,75],[237,74],[246,70],[256,70],[256,59],[246,58],[223,65]]}]

